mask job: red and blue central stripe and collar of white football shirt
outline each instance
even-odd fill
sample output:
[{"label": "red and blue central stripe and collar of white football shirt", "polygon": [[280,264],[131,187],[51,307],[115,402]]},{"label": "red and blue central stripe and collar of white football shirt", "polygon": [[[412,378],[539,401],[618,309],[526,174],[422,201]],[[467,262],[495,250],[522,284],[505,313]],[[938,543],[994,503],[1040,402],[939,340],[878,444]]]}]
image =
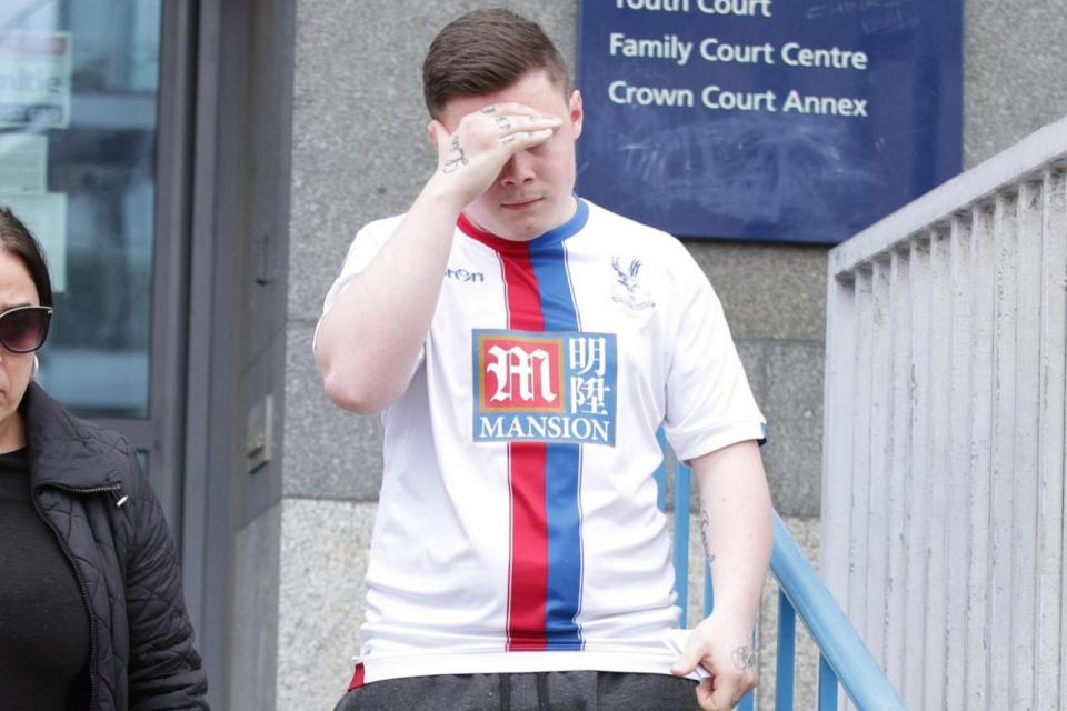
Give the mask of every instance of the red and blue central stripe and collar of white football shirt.
[{"label": "red and blue central stripe and collar of white football shirt", "polygon": [[[513,242],[460,217],[468,236],[500,259],[508,328],[517,331],[580,331],[567,268],[568,237],[585,227],[588,206],[529,242]],[[511,565],[508,650],[577,650],[581,605],[581,445],[509,442]]]}]

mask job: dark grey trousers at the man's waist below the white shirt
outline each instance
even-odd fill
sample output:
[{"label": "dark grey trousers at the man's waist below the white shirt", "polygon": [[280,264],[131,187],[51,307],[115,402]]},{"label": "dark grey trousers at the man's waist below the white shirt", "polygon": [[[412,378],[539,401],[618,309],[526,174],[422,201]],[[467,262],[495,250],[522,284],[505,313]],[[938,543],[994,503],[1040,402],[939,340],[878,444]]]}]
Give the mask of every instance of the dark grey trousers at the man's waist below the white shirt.
[{"label": "dark grey trousers at the man's waist below the white shirt", "polygon": [[551,671],[376,681],[333,711],[692,711],[697,682],[667,674]]}]

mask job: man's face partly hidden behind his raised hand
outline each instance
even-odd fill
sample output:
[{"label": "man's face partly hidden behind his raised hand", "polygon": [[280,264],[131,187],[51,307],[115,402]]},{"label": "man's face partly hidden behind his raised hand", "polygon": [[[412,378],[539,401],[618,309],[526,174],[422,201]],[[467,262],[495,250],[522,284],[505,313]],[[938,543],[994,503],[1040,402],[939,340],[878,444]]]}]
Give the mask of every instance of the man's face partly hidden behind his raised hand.
[{"label": "man's face partly hidden behind his raised hand", "polygon": [[526,241],[559,227],[575,213],[575,141],[581,133],[581,97],[577,91],[565,97],[546,71],[534,70],[496,93],[452,99],[439,118],[451,132],[468,113],[505,101],[525,103],[564,122],[540,146],[512,156],[489,189],[463,212],[487,232]]}]

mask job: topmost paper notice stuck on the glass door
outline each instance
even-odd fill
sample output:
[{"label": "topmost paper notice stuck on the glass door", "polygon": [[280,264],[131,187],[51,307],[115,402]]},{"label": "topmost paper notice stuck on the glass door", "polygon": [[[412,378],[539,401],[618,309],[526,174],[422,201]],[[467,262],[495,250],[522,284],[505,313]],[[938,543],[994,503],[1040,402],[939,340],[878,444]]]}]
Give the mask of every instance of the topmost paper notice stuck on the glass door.
[{"label": "topmost paper notice stuck on the glass door", "polygon": [[70,124],[70,32],[0,31],[0,127]]}]

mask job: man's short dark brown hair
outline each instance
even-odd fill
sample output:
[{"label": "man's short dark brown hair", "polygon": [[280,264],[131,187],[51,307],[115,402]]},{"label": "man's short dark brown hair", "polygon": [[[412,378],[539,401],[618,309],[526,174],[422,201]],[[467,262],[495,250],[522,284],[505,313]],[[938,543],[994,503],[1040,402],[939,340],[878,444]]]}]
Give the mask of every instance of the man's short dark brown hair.
[{"label": "man's short dark brown hair", "polygon": [[502,8],[468,12],[445,26],[422,62],[422,96],[437,117],[457,97],[506,89],[535,69],[570,93],[567,64],[537,22]]}]

